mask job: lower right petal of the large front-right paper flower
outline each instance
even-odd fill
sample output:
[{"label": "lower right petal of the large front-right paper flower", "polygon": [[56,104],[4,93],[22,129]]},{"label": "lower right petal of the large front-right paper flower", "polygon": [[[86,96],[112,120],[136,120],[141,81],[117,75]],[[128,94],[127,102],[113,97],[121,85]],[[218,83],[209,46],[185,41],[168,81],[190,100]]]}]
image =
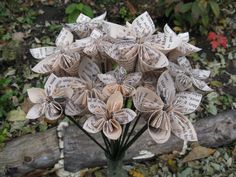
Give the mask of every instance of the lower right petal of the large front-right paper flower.
[{"label": "lower right petal of the large front-right paper flower", "polygon": [[197,134],[192,123],[181,113],[171,114],[171,131],[185,141],[197,141]]}]

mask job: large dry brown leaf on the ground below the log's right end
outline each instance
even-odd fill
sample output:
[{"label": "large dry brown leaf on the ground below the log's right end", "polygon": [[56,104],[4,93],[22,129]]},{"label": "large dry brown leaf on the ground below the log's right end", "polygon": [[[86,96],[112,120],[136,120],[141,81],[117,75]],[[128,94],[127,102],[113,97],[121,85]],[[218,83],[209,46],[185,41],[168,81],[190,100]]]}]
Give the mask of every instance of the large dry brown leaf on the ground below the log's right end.
[{"label": "large dry brown leaf on the ground below the log's right end", "polygon": [[215,153],[215,149],[211,149],[211,148],[206,148],[203,146],[197,146],[194,147],[192,149],[192,151],[185,156],[185,158],[183,159],[183,162],[189,162],[192,160],[197,160],[197,159],[202,159],[205,157],[209,157],[210,155],[212,155],[213,153]]}]

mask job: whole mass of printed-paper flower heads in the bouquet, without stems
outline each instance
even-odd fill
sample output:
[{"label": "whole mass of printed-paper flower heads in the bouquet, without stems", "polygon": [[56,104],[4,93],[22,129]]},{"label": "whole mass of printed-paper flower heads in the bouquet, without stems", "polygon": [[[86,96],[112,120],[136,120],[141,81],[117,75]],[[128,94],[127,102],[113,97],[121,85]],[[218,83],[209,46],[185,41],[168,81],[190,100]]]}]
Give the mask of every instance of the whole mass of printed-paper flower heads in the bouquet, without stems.
[{"label": "whole mass of printed-paper flower heads in the bouquet, without stems", "polygon": [[[188,33],[176,34],[168,25],[156,32],[147,12],[125,26],[105,16],[80,14],[76,23],[64,26],[55,47],[30,50],[40,60],[32,70],[50,76],[45,89],[28,89],[35,105],[27,118],[87,115],[87,132],[102,131],[116,140],[124,124],[145,115],[157,143],[166,142],[171,132],[196,141],[186,115],[201,102],[197,89],[211,91],[204,81],[210,72],[193,69],[185,56],[200,49],[188,43]],[[128,108],[128,101],[134,106]]]}]

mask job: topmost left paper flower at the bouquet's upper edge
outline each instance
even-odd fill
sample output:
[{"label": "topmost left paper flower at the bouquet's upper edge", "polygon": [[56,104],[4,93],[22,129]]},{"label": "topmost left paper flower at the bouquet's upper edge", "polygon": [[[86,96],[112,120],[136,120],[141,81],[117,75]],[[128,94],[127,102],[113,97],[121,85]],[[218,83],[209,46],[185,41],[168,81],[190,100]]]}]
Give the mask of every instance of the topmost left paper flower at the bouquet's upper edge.
[{"label": "topmost left paper flower at the bouquet's upper edge", "polygon": [[66,26],[69,27],[71,31],[74,31],[79,38],[88,37],[95,28],[101,27],[106,14],[107,13],[105,12],[102,15],[91,19],[90,17],[80,13],[76,19],[76,23],[66,24]]}]

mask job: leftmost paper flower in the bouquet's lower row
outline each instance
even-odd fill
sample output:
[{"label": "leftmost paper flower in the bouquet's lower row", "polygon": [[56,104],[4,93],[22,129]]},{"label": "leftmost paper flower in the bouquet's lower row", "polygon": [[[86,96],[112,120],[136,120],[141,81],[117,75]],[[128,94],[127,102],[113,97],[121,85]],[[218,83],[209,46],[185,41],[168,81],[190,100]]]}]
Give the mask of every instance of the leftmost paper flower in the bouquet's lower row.
[{"label": "leftmost paper flower in the bouquet's lower row", "polygon": [[34,106],[26,115],[28,119],[37,119],[45,114],[48,120],[56,120],[63,113],[62,103],[66,98],[70,98],[73,90],[70,88],[60,88],[60,79],[54,74],[48,78],[45,88],[30,88],[27,90],[29,99]]}]

